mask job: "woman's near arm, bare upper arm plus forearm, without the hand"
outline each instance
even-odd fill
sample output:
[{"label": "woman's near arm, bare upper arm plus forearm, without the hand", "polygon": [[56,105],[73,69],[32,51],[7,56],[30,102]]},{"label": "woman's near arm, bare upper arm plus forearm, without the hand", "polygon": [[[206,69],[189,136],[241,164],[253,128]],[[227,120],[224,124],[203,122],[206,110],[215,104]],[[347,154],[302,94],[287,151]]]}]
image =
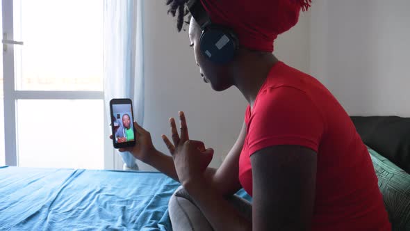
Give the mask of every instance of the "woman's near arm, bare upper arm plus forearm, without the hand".
[{"label": "woman's near arm, bare upper arm plus forearm, without the hand", "polygon": [[315,199],[317,154],[277,145],[252,154],[252,221],[247,221],[204,180],[184,184],[215,230],[309,230]]}]

